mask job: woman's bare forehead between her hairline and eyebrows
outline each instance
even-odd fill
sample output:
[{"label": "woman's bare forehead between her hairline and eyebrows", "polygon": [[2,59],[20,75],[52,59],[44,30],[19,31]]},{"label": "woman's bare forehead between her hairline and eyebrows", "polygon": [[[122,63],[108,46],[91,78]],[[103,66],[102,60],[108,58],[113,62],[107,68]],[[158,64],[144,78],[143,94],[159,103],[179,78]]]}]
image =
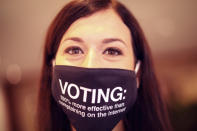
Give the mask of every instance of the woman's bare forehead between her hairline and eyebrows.
[{"label": "woman's bare forehead between her hairline and eyebrows", "polygon": [[67,37],[81,37],[84,39],[117,37],[124,41],[131,41],[128,27],[113,9],[101,10],[76,20],[66,31],[63,39]]}]

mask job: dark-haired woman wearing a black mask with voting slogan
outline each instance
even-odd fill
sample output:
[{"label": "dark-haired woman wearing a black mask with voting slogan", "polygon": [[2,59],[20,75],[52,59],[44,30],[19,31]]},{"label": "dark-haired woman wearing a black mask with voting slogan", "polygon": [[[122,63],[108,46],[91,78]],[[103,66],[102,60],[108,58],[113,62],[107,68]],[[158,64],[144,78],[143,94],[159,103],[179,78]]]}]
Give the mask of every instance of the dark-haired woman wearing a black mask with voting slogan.
[{"label": "dark-haired woman wearing a black mask with voting slogan", "polygon": [[171,130],[147,41],[124,5],[76,0],[55,17],[45,42],[38,124],[47,131]]}]

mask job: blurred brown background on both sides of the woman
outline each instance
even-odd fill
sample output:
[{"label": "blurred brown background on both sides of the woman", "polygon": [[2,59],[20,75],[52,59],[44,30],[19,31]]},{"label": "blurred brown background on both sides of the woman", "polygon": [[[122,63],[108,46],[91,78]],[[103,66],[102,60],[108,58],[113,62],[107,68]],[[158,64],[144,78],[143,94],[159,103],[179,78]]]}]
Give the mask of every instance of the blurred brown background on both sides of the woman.
[{"label": "blurred brown background on both sides of the woman", "polygon": [[[150,44],[175,131],[197,130],[197,1],[121,0]],[[47,27],[69,0],[0,0],[0,131],[36,131]]]}]

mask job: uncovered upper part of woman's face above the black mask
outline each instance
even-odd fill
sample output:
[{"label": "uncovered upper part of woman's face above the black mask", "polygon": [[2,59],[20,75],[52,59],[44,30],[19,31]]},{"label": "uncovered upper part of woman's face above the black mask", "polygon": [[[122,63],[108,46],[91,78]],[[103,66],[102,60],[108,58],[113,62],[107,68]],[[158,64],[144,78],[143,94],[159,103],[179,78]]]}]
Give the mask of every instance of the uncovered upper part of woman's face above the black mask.
[{"label": "uncovered upper part of woman's face above the black mask", "polygon": [[134,69],[132,38],[113,9],[76,20],[63,35],[55,64]]}]

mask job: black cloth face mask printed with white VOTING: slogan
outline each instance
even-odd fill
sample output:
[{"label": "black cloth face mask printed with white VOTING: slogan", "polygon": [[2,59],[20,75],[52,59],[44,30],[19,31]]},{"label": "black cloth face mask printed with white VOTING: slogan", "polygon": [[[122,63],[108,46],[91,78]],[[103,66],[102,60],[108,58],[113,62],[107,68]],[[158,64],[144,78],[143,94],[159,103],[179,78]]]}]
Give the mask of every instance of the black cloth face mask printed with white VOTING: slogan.
[{"label": "black cloth face mask printed with white VOTING: slogan", "polygon": [[136,101],[135,71],[55,65],[52,95],[77,131],[111,131]]}]

